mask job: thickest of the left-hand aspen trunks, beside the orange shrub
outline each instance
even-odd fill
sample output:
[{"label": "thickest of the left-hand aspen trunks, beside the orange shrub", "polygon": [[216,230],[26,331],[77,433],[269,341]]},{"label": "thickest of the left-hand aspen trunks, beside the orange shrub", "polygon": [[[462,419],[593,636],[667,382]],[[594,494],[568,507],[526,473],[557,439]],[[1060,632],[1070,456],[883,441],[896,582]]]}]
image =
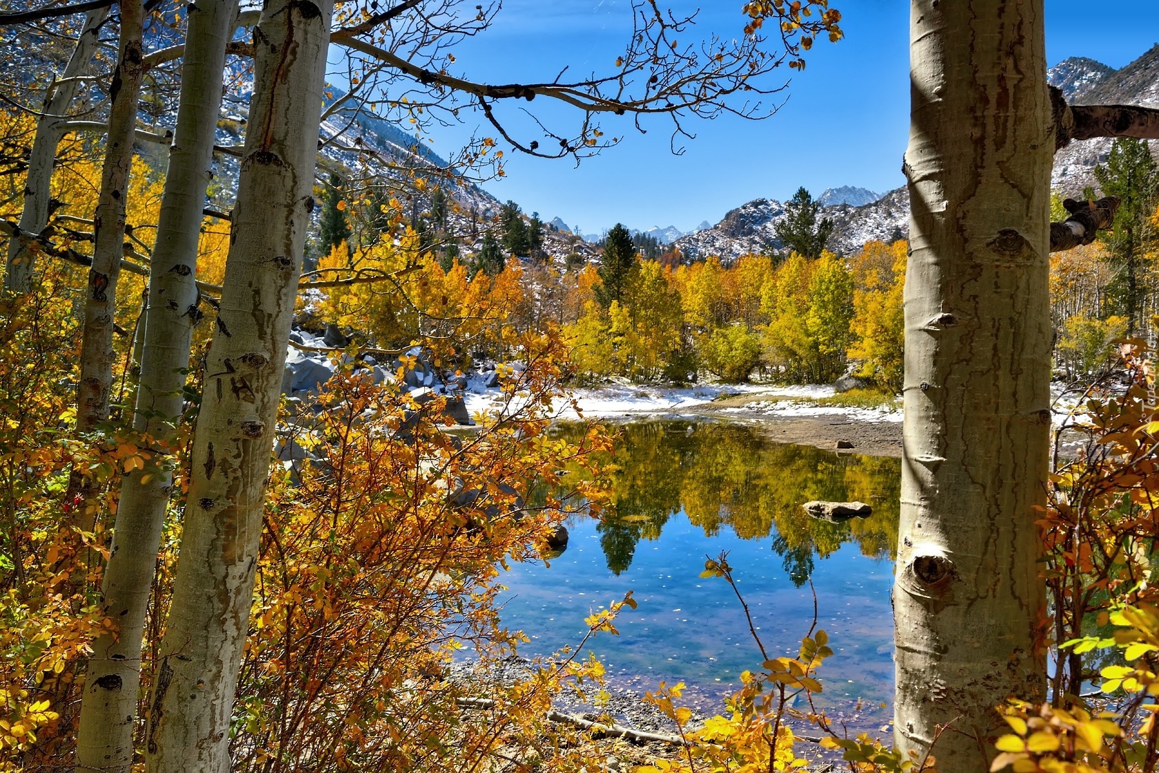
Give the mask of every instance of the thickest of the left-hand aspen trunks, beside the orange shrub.
[{"label": "thickest of the left-hand aspen trunks, beside the orange shrub", "polygon": [[333,0],[268,0],[181,555],[150,701],[151,773],[223,773],[313,200]]}]

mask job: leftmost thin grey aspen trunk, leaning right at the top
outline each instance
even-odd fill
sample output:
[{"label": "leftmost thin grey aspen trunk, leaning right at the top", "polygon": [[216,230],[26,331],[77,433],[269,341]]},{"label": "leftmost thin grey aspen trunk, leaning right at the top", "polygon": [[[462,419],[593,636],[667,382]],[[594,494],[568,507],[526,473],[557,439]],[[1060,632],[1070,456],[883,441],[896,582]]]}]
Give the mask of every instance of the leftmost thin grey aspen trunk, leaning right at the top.
[{"label": "leftmost thin grey aspen trunk, leaning right at the top", "polygon": [[28,177],[24,182],[24,209],[20,213],[19,232],[8,242],[8,258],[3,286],[10,292],[28,292],[32,289],[34,255],[25,239],[37,236],[49,224],[49,199],[52,196],[52,162],[57,158],[57,145],[64,137],[68,108],[76,99],[76,79],[87,70],[96,50],[101,25],[109,15],[109,8],[90,10],[85,16],[76,48],[68,64],[60,73],[60,83],[53,83],[44,101],[43,114],[36,122],[32,150],[28,156]]}]

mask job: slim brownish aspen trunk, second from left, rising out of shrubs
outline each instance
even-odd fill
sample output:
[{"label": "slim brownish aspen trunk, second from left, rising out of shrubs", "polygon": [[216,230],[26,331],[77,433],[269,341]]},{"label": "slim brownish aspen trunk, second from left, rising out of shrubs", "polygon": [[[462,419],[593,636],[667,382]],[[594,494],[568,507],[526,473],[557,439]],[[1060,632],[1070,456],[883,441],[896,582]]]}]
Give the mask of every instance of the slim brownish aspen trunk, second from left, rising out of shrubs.
[{"label": "slim brownish aspen trunk, second from left, rising out of shrubs", "polygon": [[76,387],[76,431],[88,432],[109,417],[112,389],[112,323],[125,242],[125,197],[133,160],[137,102],[144,73],[141,0],[118,2],[121,46],[109,89],[109,133],[101,169],[101,194],[93,217],[93,267],[85,291],[85,324]]}]

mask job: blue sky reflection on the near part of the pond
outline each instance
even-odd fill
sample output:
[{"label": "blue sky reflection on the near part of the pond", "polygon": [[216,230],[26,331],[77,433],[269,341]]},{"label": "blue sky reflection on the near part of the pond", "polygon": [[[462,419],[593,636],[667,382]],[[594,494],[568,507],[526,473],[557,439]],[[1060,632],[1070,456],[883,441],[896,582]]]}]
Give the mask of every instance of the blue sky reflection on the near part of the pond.
[{"label": "blue sky reflection on the near part of the pond", "polygon": [[[672,429],[680,431],[668,433],[669,438],[688,437],[685,425]],[[713,432],[713,425],[700,425],[694,431],[700,442],[706,439],[705,433]],[[668,440],[661,438],[661,442]],[[724,440],[724,444],[730,442],[736,439]],[[758,442],[758,445],[765,444]],[[773,449],[786,450],[785,446]],[[694,449],[692,453],[695,455]],[[681,458],[686,461],[687,454],[685,447]],[[852,461],[855,458],[837,458],[816,450],[806,453],[807,457],[814,454],[832,457],[838,467],[855,464]],[[749,458],[751,464],[759,466],[761,457],[758,450]],[[630,464],[626,459],[618,459],[618,462]],[[887,469],[896,474],[896,467]],[[800,466],[794,466],[794,472],[800,475]],[[831,476],[832,469],[823,474]],[[702,489],[702,481],[700,484]],[[756,489],[760,486],[758,483]],[[808,489],[808,482],[794,480],[792,488]],[[891,491],[894,487],[884,486],[883,489]],[[752,496],[759,494],[755,491]],[[896,513],[896,505],[892,511]],[[788,516],[781,511],[777,520],[782,522],[785,517],[808,518],[803,511]],[[685,681],[688,705],[717,712],[721,710],[719,699],[736,688],[741,671],[759,668],[760,655],[749,634],[744,612],[728,584],[723,579],[699,576],[706,554],[715,557],[721,550],[729,550],[729,562],[741,591],[772,657],[796,655],[801,636],[812,620],[812,593],[808,584],[799,588],[790,579],[785,559],[779,554],[785,547],[781,545],[780,550],[774,547],[775,533],[744,540],[726,526],[706,537],[705,528],[692,525],[683,509],[662,523],[658,539],[650,538],[654,531],[641,539],[630,553],[627,568],[617,575],[608,569],[610,556],[602,548],[598,523],[585,517],[573,518],[568,524],[571,532],[568,549],[551,561],[549,567],[516,564],[503,576],[502,582],[510,588],[503,595],[506,604],[503,621],[512,628],[523,628],[531,636],[531,643],[522,654],[551,652],[578,642],[584,630],[583,618],[622,598],[630,589],[640,606],[634,611],[625,608],[621,613],[617,622],[620,636],[600,635],[589,641],[588,649],[600,657],[618,685],[643,691],[662,679],[670,684]],[[896,520],[892,526],[896,527]],[[831,544],[828,556],[814,556],[812,561],[818,627],[829,633],[836,652],[821,670],[825,691],[819,697],[819,707],[834,715],[848,716],[857,700],[863,699],[867,710],[852,727],[876,730],[888,721],[889,710],[880,705],[892,700],[894,690],[889,605],[892,564],[862,555],[859,544],[848,541],[847,527],[839,528],[846,531],[839,533],[836,541],[844,541],[844,545]],[[833,542],[832,537],[830,533],[829,539],[822,541]],[[808,544],[799,547],[807,552],[811,548]],[[619,562],[624,563],[622,557]]]}]

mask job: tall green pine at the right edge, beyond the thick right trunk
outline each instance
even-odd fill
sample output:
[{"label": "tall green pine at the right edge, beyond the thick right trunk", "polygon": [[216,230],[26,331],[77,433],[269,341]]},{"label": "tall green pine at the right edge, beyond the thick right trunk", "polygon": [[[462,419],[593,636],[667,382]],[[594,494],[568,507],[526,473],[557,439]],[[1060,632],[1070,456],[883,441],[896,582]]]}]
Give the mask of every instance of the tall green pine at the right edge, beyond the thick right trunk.
[{"label": "tall green pine at the right edge, beyond the thick right trunk", "polygon": [[1143,319],[1147,280],[1143,253],[1151,234],[1149,220],[1159,197],[1159,166],[1146,140],[1120,138],[1110,146],[1106,165],[1094,169],[1103,196],[1122,199],[1115,224],[1103,243],[1115,267],[1109,299],[1111,308],[1127,318],[1127,335],[1136,334]]}]

